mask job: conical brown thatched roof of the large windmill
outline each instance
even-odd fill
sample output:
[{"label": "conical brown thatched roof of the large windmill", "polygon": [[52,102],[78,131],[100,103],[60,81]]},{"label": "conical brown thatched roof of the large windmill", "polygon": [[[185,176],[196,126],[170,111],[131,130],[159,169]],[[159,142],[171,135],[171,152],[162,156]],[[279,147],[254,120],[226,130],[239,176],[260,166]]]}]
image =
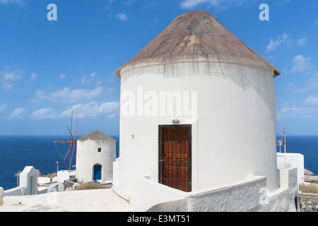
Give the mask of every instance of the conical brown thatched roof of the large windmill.
[{"label": "conical brown thatched roof of the large windmill", "polygon": [[117,69],[115,74],[120,78],[126,66],[173,64],[202,59],[271,69],[274,77],[281,74],[206,11],[192,11],[178,16],[141,52]]}]

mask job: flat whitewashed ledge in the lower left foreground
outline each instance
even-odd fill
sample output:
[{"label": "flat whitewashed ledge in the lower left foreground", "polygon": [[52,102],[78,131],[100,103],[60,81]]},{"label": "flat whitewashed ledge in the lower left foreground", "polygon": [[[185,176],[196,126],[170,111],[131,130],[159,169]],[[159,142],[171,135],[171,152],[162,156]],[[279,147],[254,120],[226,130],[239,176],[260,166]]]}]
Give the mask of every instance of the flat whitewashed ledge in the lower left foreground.
[{"label": "flat whitewashed ledge in the lower left foreground", "polygon": [[134,206],[112,189],[61,191],[35,196],[5,196],[0,212],[129,212]]}]

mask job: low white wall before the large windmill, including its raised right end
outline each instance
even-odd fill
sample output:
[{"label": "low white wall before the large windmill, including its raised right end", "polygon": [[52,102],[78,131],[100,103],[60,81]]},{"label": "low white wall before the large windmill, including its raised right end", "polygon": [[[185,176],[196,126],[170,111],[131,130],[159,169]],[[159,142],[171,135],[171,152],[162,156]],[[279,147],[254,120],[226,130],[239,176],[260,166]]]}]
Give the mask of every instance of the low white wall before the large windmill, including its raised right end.
[{"label": "low white wall before the large windmill, including its raised right end", "polygon": [[136,197],[131,203],[145,211],[296,211],[297,169],[281,169],[278,174],[281,187],[270,193],[266,188],[266,177],[259,176],[189,193],[139,177]]}]

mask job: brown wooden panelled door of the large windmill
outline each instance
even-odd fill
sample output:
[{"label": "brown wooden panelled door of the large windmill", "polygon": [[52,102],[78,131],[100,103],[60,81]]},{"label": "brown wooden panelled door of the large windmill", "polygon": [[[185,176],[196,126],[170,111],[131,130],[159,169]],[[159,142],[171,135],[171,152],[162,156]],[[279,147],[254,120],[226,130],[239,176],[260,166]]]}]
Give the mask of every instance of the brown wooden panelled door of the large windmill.
[{"label": "brown wooden panelled door of the large windmill", "polygon": [[159,126],[159,183],[191,191],[191,125]]}]

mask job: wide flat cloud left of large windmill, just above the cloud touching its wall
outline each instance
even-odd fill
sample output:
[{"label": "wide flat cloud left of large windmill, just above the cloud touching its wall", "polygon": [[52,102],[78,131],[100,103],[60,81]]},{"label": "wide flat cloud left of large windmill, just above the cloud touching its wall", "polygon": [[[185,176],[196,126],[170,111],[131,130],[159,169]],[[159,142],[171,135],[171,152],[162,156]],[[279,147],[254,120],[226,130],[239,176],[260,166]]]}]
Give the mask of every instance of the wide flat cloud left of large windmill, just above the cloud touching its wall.
[{"label": "wide flat cloud left of large windmill, just above the cloud touching its wall", "polygon": [[82,100],[90,100],[102,95],[102,86],[96,87],[94,90],[75,89],[71,90],[66,87],[62,90],[57,90],[52,93],[45,93],[43,90],[37,90],[35,100],[49,100],[52,102],[73,103]]}]

